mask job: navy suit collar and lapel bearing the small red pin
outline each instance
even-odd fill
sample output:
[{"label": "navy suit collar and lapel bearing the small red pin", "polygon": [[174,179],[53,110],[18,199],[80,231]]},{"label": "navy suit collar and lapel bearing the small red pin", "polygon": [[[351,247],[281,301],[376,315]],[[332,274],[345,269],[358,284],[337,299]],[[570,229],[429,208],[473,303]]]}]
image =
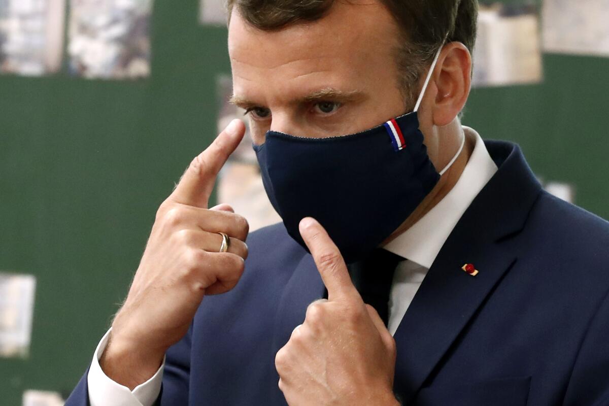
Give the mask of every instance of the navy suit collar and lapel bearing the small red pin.
[{"label": "navy suit collar and lapel bearing the small red pin", "polygon": [[[541,190],[516,145],[486,144],[499,170],[446,240],[394,335],[395,391],[405,404],[517,261],[505,241],[523,229]],[[478,275],[461,269],[468,263]]]}]

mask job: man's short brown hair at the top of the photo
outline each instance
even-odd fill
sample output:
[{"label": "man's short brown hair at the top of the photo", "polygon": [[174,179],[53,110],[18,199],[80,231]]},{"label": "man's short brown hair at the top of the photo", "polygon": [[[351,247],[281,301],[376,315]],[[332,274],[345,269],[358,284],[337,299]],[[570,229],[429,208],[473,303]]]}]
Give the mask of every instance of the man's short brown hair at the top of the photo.
[{"label": "man's short brown hair at the top of the photo", "polygon": [[[345,0],[349,1],[349,0]],[[477,0],[379,0],[402,27],[396,62],[402,75],[398,86],[406,105],[414,105],[421,74],[444,40],[463,43],[473,53],[476,42]],[[267,31],[322,18],[334,0],[228,0],[228,16],[234,7],[245,21]],[[447,37],[448,35],[448,37]]]}]

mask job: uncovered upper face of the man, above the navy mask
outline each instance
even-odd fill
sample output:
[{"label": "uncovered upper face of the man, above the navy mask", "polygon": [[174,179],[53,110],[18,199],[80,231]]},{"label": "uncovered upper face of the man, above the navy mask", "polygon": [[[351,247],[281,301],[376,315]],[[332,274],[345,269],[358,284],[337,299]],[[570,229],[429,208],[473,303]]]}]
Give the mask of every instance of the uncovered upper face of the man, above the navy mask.
[{"label": "uncovered upper face of the man, above the navy mask", "polygon": [[395,62],[398,38],[394,19],[377,1],[334,2],[318,21],[275,32],[255,29],[233,10],[233,102],[250,110],[255,144],[267,130],[347,135],[407,113]]}]

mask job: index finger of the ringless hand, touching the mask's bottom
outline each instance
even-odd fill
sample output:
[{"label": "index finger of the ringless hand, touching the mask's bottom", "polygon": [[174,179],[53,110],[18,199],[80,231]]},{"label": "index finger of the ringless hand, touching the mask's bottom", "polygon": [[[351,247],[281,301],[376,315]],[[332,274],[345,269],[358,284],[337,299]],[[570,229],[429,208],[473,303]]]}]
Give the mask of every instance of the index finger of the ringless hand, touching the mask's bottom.
[{"label": "index finger of the ringless hand, touching the mask's bottom", "polygon": [[359,292],[351,282],[347,264],[345,264],[339,248],[336,247],[322,225],[311,217],[305,217],[300,221],[299,228],[300,235],[311,251],[317,270],[322,276],[323,284],[328,289],[328,299],[333,301],[351,298],[362,301]]}]

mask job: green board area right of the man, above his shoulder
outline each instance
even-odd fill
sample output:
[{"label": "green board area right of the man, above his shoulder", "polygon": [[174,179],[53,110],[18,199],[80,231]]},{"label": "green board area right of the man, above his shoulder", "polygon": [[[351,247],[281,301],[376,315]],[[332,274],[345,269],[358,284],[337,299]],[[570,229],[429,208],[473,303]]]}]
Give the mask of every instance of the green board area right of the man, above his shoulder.
[{"label": "green board area right of the man, above his shoulder", "polygon": [[543,83],[474,89],[463,124],[518,142],[539,178],[573,184],[577,205],[609,219],[609,58],[543,61]]}]

